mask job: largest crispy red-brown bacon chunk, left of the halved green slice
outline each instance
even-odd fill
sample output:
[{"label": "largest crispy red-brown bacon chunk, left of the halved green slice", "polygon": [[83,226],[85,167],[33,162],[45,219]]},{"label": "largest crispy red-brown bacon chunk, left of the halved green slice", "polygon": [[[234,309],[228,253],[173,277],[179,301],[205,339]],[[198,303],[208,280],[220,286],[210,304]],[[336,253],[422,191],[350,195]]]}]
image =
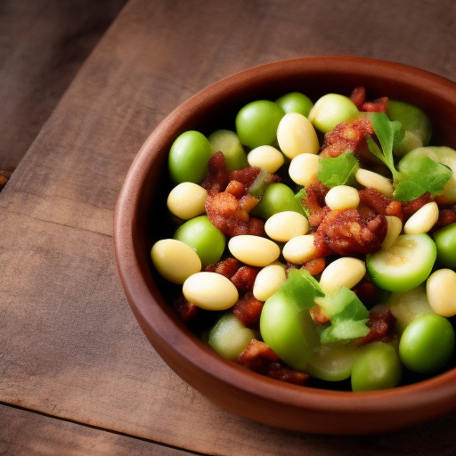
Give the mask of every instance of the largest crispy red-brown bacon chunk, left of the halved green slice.
[{"label": "largest crispy red-brown bacon chunk, left of the halved green slice", "polygon": [[367,255],[379,250],[387,235],[387,219],[363,219],[356,209],[331,210],[315,232],[318,256]]}]

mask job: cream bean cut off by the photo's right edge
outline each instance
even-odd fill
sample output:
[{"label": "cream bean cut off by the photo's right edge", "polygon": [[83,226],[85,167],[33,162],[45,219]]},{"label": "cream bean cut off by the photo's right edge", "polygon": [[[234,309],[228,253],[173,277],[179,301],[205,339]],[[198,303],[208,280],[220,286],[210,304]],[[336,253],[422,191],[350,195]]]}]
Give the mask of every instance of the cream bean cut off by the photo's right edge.
[{"label": "cream bean cut off by the photo's right edge", "polygon": [[426,292],[432,310],[443,317],[456,315],[456,273],[439,269],[428,277]]}]

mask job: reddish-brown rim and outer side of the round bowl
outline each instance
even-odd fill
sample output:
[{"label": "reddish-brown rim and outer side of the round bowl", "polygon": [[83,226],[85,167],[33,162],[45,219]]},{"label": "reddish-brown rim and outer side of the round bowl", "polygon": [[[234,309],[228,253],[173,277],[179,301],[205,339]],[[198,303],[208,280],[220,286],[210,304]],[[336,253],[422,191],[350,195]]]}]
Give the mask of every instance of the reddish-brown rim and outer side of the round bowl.
[{"label": "reddish-brown rim and outer side of the round bowl", "polygon": [[[252,85],[270,77],[303,70],[315,74],[324,71],[353,74],[356,70],[366,78],[375,78],[381,73],[385,80],[401,78],[405,83],[416,86],[417,90],[431,92],[436,99],[456,104],[456,84],[444,77],[400,63],[350,56],[277,61],[247,69],[208,86],[160,123],[143,144],[126,175],[114,216],[118,273],[126,298],[152,346],[183,380],[219,405],[248,418],[308,432],[365,434],[400,427],[395,419],[388,422],[389,414],[403,416],[403,426],[442,416],[456,409],[456,368],[408,386],[352,393],[279,383],[221,359],[191,334],[170,310],[147,269],[149,252],[143,252],[138,247],[138,239],[143,236],[142,218],[138,214],[145,204],[143,185],[148,181],[151,170],[163,165],[176,133],[187,129],[186,118],[222,98],[232,96],[239,85]],[[170,132],[173,133],[171,138]],[[455,146],[452,144],[452,147]],[[195,370],[199,375],[194,375]],[[217,395],[217,390],[222,387],[229,393],[224,398]],[[246,403],[251,403],[252,408],[249,409]],[[276,410],[279,418],[259,418],[262,403]],[[280,417],[287,409],[290,417],[300,419],[300,422],[290,420],[284,423]],[[331,417],[328,421],[330,428],[322,426],[324,416]],[[343,421],[355,416],[359,417],[357,428],[350,430]]]}]

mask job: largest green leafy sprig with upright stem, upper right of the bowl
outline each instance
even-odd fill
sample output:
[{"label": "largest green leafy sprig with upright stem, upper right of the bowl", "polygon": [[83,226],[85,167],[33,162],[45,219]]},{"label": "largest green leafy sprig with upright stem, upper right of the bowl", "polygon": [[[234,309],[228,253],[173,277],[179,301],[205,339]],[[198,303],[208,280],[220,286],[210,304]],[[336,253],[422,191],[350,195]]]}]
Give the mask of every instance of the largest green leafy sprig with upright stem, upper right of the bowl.
[{"label": "largest green leafy sprig with upright stem, upper right of the bowl", "polygon": [[399,122],[391,122],[385,113],[370,114],[372,126],[379,144],[366,136],[369,150],[383,162],[393,175],[395,191],[393,196],[399,201],[411,201],[427,191],[431,196],[442,194],[444,184],[452,177],[452,170],[433,159],[423,157],[408,169],[395,168],[394,149],[403,140],[403,128]]}]

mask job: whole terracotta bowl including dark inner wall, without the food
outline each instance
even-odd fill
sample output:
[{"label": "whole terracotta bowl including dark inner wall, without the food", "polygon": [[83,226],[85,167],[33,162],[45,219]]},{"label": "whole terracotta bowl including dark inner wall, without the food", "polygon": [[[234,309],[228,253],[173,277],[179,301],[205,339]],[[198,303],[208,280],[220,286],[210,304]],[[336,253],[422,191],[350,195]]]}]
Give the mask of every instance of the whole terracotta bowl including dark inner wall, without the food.
[{"label": "whole terracotta bowl including dark inner wall, without the food", "polygon": [[435,419],[456,410],[456,368],[432,379],[383,391],[353,393],[297,387],[267,379],[221,358],[188,330],[167,302],[167,286],[151,270],[154,240],[164,226],[167,153],[186,130],[233,129],[237,111],[257,99],[299,91],[411,102],[428,113],[434,139],[456,148],[456,84],[402,64],[353,57],[311,57],[248,69],[210,85],[172,112],[142,146],[118,198],[114,242],[126,298],[151,345],[191,387],[249,419],[297,431],[368,434]]}]

